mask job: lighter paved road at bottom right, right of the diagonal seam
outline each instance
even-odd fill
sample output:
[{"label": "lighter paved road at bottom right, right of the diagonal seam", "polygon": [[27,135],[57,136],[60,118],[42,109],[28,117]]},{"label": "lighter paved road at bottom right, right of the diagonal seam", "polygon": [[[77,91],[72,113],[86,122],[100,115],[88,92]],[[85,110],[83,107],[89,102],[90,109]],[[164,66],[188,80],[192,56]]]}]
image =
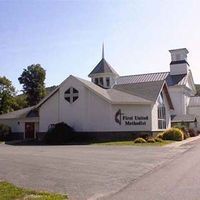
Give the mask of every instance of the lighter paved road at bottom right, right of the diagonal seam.
[{"label": "lighter paved road at bottom right, right of the diagonal seam", "polygon": [[199,200],[200,140],[188,143],[187,151],[102,199]]}]

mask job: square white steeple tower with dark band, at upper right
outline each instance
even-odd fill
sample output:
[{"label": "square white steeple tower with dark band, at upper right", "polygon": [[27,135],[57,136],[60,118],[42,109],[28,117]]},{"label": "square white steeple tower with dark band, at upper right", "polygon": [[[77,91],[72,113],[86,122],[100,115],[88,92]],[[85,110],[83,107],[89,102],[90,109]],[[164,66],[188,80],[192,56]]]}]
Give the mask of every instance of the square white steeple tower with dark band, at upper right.
[{"label": "square white steeple tower with dark band, at upper right", "polygon": [[186,48],[169,50],[171,53],[170,75],[187,74],[189,64],[187,62],[187,54],[189,51]]}]

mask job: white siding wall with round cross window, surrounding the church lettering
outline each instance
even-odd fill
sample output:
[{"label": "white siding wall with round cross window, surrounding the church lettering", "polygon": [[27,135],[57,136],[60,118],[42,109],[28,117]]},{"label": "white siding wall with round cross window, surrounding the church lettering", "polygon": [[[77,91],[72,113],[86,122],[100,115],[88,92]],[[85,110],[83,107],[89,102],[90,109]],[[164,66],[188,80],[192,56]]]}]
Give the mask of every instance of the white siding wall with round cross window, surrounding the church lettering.
[{"label": "white siding wall with round cross window, surrounding the church lettering", "polygon": [[[79,98],[72,104],[64,98],[65,91],[70,87],[79,91]],[[119,109],[127,116],[148,116],[146,125],[117,124],[115,113]],[[40,132],[47,131],[49,124],[57,122],[65,122],[76,131],[151,131],[151,107],[112,105],[78,80],[69,78],[59,92],[40,108]]]}]

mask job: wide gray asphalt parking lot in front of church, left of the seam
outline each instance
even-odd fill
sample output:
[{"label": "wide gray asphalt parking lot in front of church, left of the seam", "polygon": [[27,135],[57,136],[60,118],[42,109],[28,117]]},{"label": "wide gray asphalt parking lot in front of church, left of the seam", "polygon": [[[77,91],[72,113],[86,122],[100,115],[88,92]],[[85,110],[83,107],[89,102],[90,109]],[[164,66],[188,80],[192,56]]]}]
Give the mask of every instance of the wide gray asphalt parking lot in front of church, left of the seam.
[{"label": "wide gray asphalt parking lot in front of church, left of the seam", "polygon": [[99,199],[190,149],[113,146],[11,146],[0,144],[0,179],[26,188]]}]

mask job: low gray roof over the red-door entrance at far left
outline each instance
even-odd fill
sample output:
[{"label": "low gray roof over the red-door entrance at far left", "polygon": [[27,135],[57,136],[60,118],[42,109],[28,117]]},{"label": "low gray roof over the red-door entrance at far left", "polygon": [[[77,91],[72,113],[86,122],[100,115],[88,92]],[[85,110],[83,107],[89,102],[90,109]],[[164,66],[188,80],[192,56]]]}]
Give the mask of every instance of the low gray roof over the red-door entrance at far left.
[{"label": "low gray roof over the red-door entrance at far left", "polygon": [[32,106],[32,107],[16,110],[13,112],[9,112],[6,114],[2,114],[2,115],[0,115],[0,119],[18,119],[18,118],[26,118],[26,117],[37,117],[37,115],[35,115],[35,114],[33,115],[33,113],[32,113],[34,108],[35,107]]}]

